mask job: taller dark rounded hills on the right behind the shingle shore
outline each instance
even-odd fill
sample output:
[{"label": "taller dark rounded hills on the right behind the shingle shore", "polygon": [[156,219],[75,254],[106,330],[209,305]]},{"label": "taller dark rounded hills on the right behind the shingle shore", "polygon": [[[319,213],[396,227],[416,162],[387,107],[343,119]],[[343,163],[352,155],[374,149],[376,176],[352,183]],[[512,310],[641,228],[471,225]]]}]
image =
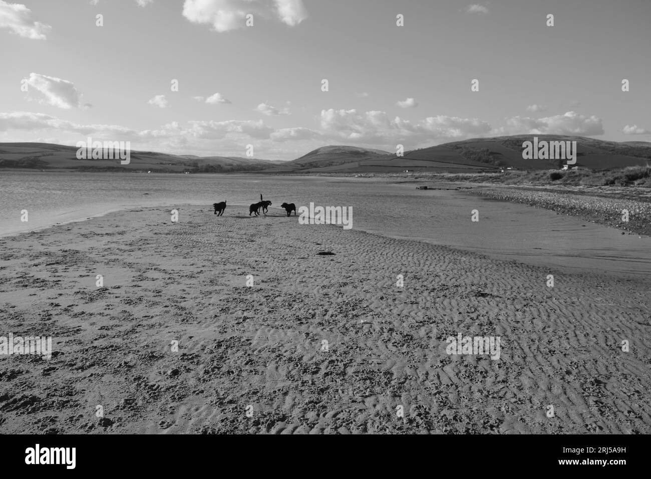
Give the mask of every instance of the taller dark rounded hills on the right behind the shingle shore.
[{"label": "taller dark rounded hills on the right behind the shingle shore", "polygon": [[[540,141],[576,141],[577,166],[590,169],[646,165],[651,160],[651,143],[646,141],[603,141],[562,135],[537,135]],[[515,169],[554,169],[563,161],[525,160],[523,141],[533,135],[501,136],[453,141],[444,145],[405,152],[404,156],[357,147],[323,147],[281,167],[265,172],[292,173],[367,173],[400,171],[499,171]]]}]

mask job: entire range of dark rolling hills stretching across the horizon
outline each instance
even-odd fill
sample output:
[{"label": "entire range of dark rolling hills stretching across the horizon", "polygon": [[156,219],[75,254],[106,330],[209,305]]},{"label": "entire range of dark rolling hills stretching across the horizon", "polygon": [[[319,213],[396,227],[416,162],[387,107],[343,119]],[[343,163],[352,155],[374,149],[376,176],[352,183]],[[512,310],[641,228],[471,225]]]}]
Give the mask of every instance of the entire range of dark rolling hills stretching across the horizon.
[{"label": "entire range of dark rolling hills stretching across the horizon", "polygon": [[[399,173],[401,171],[450,171],[472,173],[514,169],[555,169],[558,160],[525,160],[523,141],[531,135],[474,138],[405,152],[330,145],[296,160],[259,160],[235,156],[173,155],[132,151],[131,162],[119,160],[77,160],[76,147],[50,143],[0,143],[0,169],[43,169],[55,171],[154,171],[167,173]],[[603,141],[580,136],[538,135],[539,140],[576,141],[577,166],[589,169],[646,165],[651,160],[648,141]]]}]

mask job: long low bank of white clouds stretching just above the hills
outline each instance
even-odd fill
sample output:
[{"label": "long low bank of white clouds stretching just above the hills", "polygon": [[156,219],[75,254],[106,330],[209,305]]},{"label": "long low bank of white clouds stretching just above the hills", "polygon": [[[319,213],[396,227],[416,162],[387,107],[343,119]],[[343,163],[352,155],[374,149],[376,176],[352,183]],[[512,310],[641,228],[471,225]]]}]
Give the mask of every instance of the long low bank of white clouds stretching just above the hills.
[{"label": "long low bank of white clouds stretching just above the hills", "polygon": [[[627,125],[626,129],[631,132],[642,130],[635,125]],[[0,113],[0,138],[9,138],[8,132],[12,132],[11,141],[35,141],[36,138],[56,136],[62,141],[72,141],[74,145],[80,137],[92,136],[98,140],[132,141],[133,149],[183,154],[206,152],[242,156],[244,145],[252,143],[263,158],[261,151],[273,151],[277,157],[290,159],[287,155],[297,150],[303,154],[314,149],[314,142],[387,150],[402,143],[413,149],[458,139],[495,136],[497,133],[590,136],[602,134],[603,128],[601,119],[583,117],[572,111],[542,119],[514,117],[506,120],[504,128],[495,129],[476,118],[437,115],[409,121],[390,117],[385,111],[324,109],[320,112],[320,128],[316,130],[305,127],[275,129],[262,119],[171,122],[152,130],[133,130],[110,124],[77,124],[44,113]],[[292,146],[294,144],[301,147]],[[297,156],[300,154],[294,157]]]}]

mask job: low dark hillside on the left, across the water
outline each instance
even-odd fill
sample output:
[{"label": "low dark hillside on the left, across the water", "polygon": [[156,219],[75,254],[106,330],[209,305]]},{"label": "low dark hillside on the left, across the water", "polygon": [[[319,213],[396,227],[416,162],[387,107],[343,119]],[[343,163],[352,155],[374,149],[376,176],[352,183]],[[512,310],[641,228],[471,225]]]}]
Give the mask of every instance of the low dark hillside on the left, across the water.
[{"label": "low dark hillside on the left, across the water", "polygon": [[222,173],[257,171],[279,163],[236,156],[178,156],[152,151],[132,151],[130,160],[128,165],[120,164],[120,160],[77,160],[76,147],[52,143],[0,143],[0,169]]}]

